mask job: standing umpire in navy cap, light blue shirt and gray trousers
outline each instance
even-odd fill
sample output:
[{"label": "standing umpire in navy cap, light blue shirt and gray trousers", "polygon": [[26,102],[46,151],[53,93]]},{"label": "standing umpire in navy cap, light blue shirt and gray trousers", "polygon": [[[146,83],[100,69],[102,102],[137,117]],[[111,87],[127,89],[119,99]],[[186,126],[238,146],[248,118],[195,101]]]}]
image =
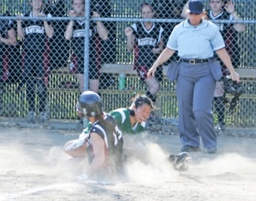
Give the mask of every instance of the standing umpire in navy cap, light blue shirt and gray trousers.
[{"label": "standing umpire in navy cap, light blue shirt and gray trousers", "polygon": [[188,18],[175,26],[166,49],[148,72],[154,76],[159,65],[178,51],[177,97],[178,126],[182,152],[200,152],[200,136],[209,153],[217,152],[217,136],[211,112],[215,83],[221,78],[221,66],[212,61],[214,51],[230,70],[233,81],[239,82],[218,27],[203,20],[201,1],[189,2]]}]

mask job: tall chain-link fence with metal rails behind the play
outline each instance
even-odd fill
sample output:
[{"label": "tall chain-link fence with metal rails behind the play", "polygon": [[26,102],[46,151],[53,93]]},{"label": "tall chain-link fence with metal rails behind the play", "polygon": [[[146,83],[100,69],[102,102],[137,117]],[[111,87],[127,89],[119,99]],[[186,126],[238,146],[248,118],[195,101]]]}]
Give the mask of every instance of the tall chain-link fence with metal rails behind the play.
[{"label": "tall chain-link fence with metal rails behind the play", "polygon": [[[210,2],[214,1],[219,2],[205,1],[208,19],[221,31],[225,28],[222,34],[226,49],[242,77],[243,93],[233,109],[230,101],[234,96],[226,94],[226,109],[222,109],[225,122],[234,128],[254,128],[256,5],[252,0],[234,1],[241,18],[237,22],[230,19],[230,14],[223,15],[228,16],[225,18],[210,18]],[[101,94],[106,112],[128,107],[135,94],[146,94],[148,86],[134,70],[138,49],[127,49],[124,30],[134,23],[139,26],[150,21],[158,27],[164,48],[174,26],[184,20],[182,9],[187,1],[147,2],[154,10],[150,20],[142,18],[142,4],[146,2],[141,0],[2,0],[0,116],[30,123],[77,120],[75,104],[85,89]],[[246,25],[246,29],[238,32],[234,29],[236,23]],[[150,29],[146,32],[150,33]],[[157,56],[148,54],[140,59],[154,61]],[[174,55],[170,61],[177,59]],[[158,115],[167,120],[178,116],[175,83],[166,78],[170,61],[162,67],[163,77],[155,101],[160,108]],[[217,124],[218,106],[214,104],[213,112]]]}]

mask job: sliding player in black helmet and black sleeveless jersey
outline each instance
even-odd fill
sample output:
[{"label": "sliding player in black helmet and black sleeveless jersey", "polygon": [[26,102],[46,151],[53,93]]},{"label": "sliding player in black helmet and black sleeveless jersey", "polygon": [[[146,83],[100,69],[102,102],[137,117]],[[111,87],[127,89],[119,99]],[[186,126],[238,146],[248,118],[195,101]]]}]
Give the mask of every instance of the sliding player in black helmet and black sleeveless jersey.
[{"label": "sliding player in black helmet and black sleeveless jersey", "polygon": [[79,179],[92,175],[117,175],[122,167],[122,132],[114,118],[103,112],[101,97],[97,93],[86,91],[78,101],[79,111],[90,120],[86,130],[78,140],[64,145],[64,150],[72,157],[87,157],[90,167]]}]

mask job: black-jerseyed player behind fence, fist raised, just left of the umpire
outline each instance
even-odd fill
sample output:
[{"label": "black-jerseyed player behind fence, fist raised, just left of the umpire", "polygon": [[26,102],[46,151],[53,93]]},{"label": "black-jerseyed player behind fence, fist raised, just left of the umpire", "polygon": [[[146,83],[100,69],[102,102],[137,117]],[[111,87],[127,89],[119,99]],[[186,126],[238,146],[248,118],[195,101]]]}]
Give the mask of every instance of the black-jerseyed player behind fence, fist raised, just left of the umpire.
[{"label": "black-jerseyed player behind fence, fist raised, just left of the umpire", "polygon": [[[142,4],[141,16],[143,19],[154,17],[154,10],[149,3]],[[130,52],[134,51],[134,69],[137,70],[138,76],[147,85],[146,96],[150,97],[154,103],[160,88],[159,82],[162,81],[162,67],[158,68],[152,79],[148,79],[147,72],[157,55],[162,52],[162,33],[162,26],[155,22],[138,22],[125,29],[127,49]]]}]

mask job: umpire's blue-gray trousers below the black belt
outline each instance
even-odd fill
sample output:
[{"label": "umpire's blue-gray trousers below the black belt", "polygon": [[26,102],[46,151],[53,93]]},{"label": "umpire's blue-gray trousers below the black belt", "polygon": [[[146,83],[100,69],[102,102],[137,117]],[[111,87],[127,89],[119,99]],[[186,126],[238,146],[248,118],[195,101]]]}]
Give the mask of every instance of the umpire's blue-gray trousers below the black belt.
[{"label": "umpire's blue-gray trousers below the black belt", "polygon": [[215,85],[208,62],[181,63],[177,97],[178,127],[183,145],[199,147],[200,136],[205,148],[217,145],[211,112]]}]

